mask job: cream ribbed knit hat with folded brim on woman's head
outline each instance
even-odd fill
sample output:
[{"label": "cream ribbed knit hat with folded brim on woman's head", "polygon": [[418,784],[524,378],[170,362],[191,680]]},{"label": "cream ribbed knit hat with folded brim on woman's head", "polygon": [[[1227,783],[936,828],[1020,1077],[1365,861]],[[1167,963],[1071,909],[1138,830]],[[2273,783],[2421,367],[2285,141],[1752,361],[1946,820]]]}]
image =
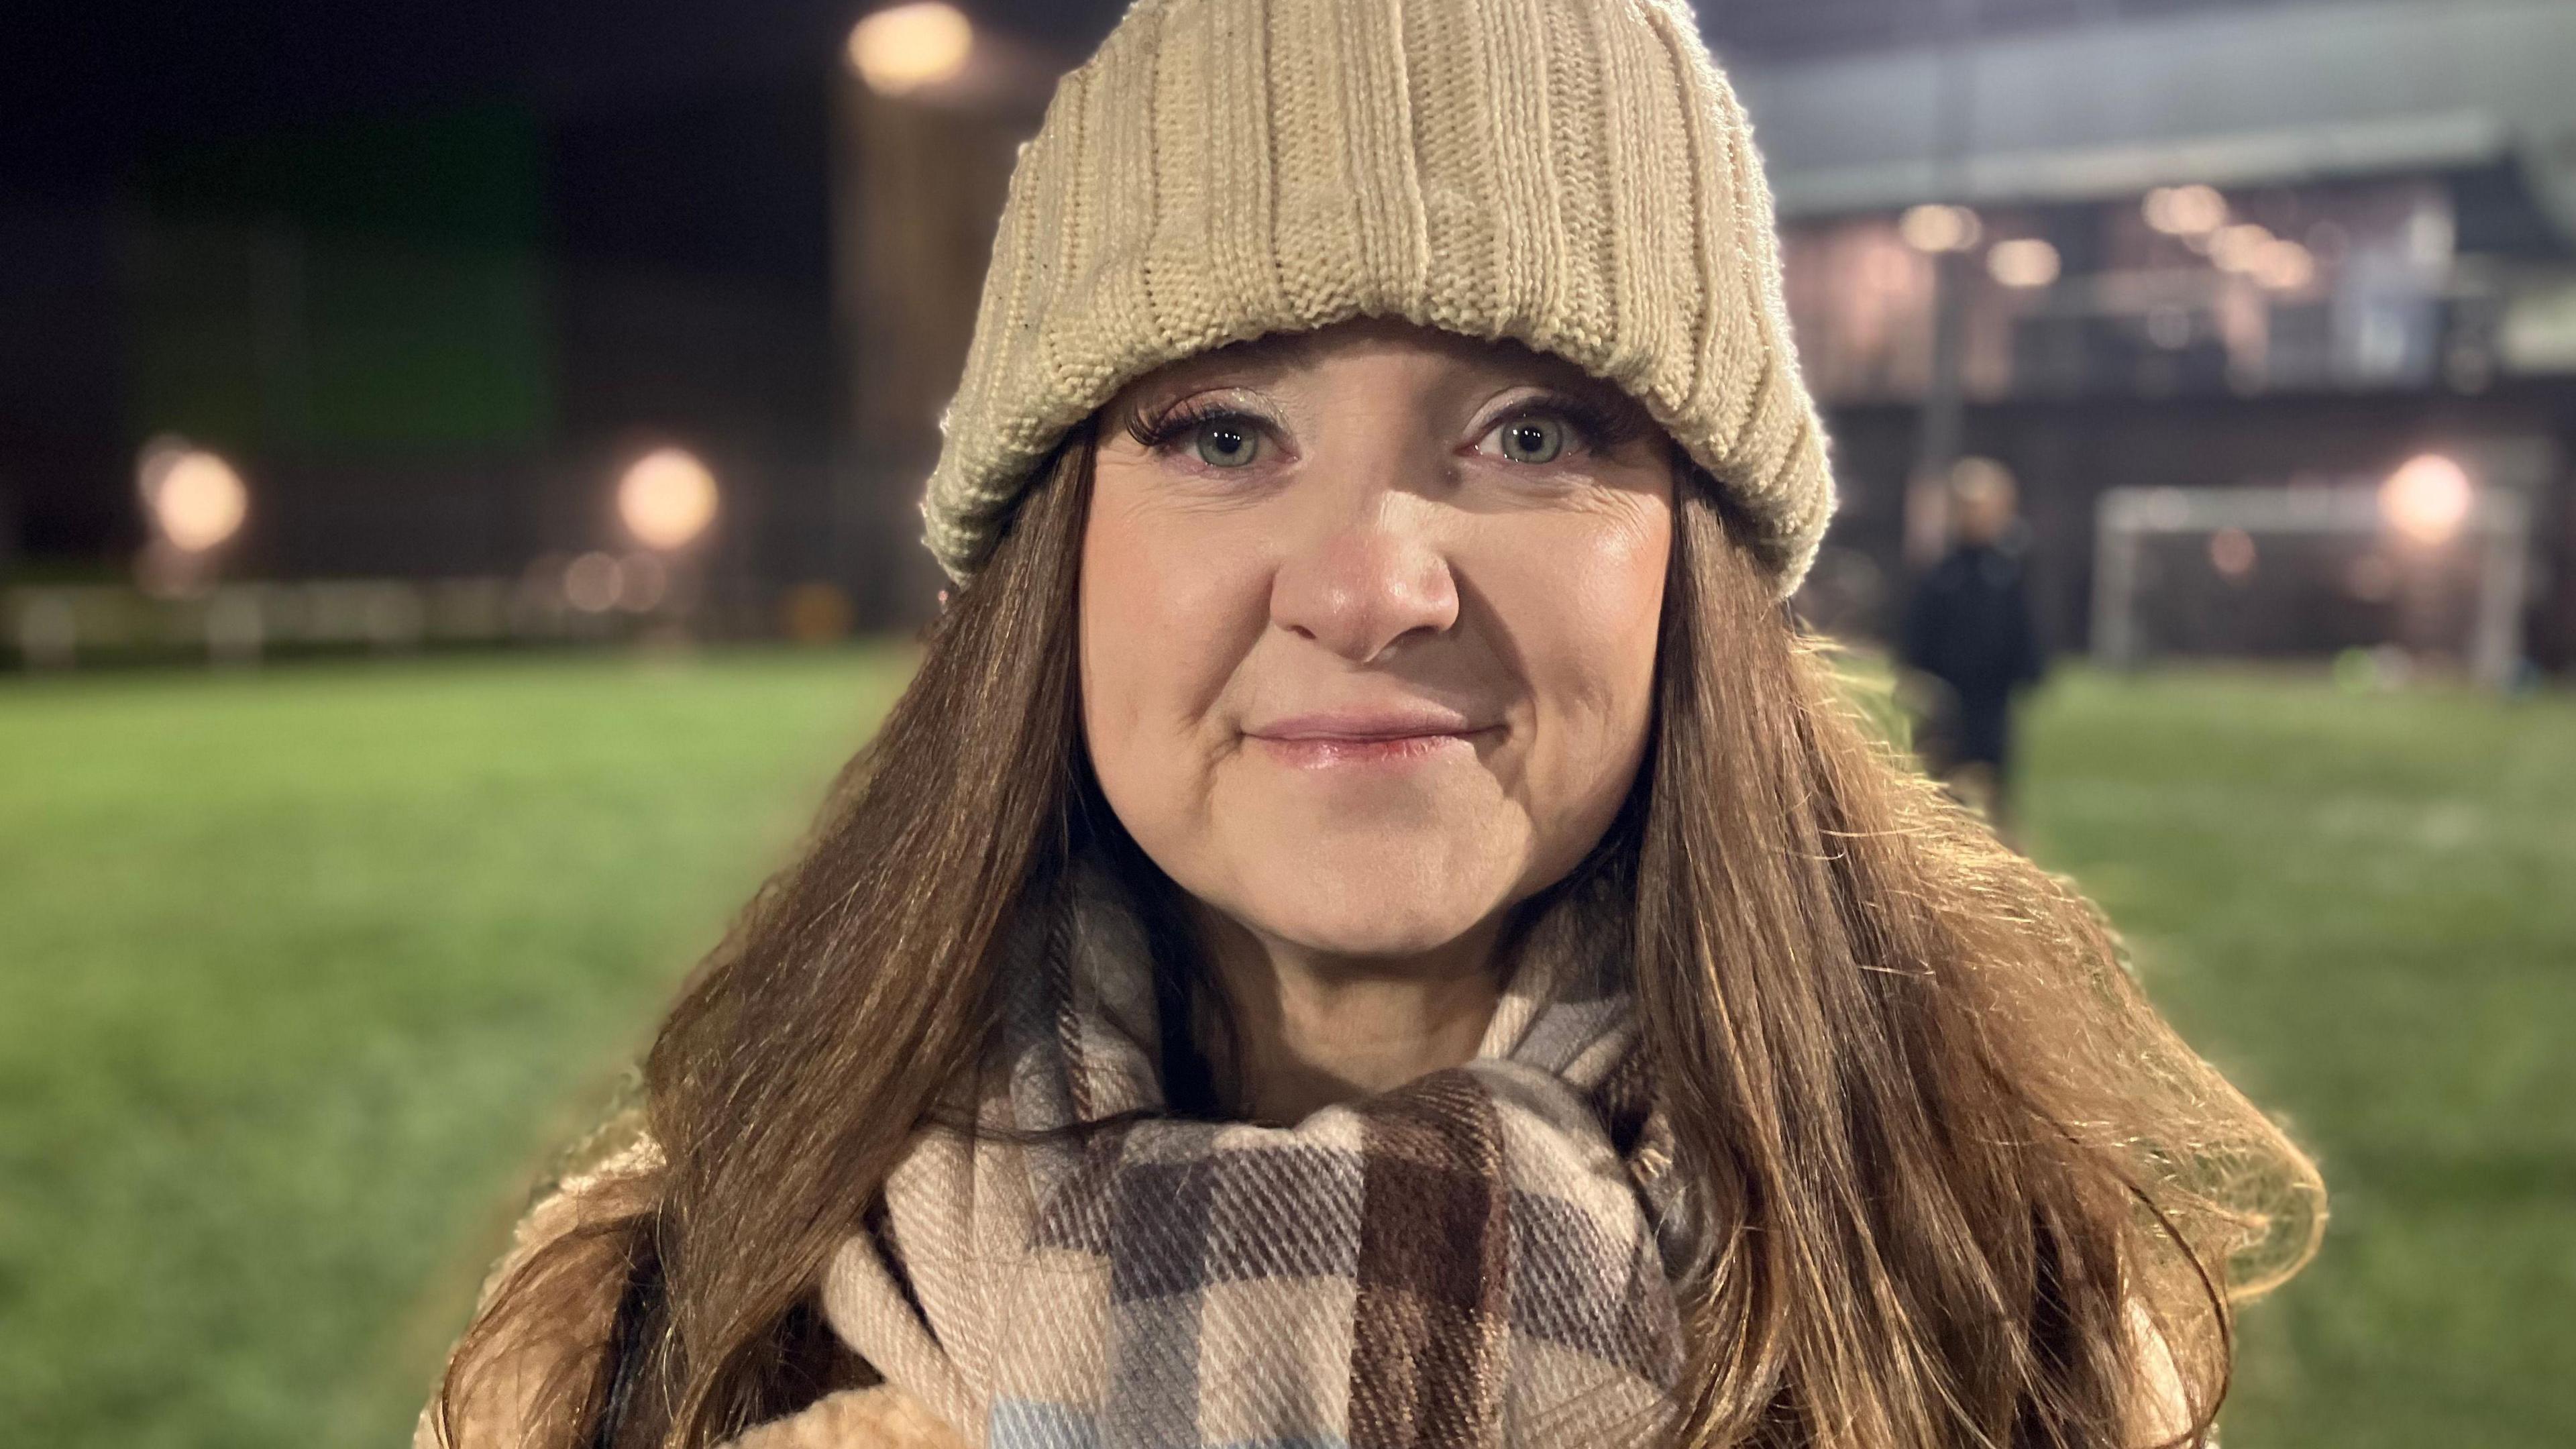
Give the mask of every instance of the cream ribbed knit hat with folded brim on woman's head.
[{"label": "cream ribbed knit hat with folded brim on woman's head", "polygon": [[1783,596],[1816,557],[1770,188],[1682,0],[1139,0],[1020,147],[922,541],[966,583],[1121,387],[1363,315],[1628,389]]}]

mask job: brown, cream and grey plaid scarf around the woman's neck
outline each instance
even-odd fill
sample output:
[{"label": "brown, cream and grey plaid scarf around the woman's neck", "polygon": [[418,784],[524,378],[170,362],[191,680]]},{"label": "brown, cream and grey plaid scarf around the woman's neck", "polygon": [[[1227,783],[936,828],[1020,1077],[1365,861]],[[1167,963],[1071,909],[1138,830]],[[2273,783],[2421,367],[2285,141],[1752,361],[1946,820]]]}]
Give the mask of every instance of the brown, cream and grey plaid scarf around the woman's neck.
[{"label": "brown, cream and grey plaid scarf around the woman's neck", "polygon": [[1600,892],[1558,892],[1507,946],[1471,1062],[1296,1127],[1159,1116],[1144,928],[1087,859],[1066,900],[1015,936],[958,1098],[1023,1137],[914,1140],[824,1279],[850,1348],[989,1449],[1669,1428],[1672,1284],[1705,1266],[1705,1232]]}]

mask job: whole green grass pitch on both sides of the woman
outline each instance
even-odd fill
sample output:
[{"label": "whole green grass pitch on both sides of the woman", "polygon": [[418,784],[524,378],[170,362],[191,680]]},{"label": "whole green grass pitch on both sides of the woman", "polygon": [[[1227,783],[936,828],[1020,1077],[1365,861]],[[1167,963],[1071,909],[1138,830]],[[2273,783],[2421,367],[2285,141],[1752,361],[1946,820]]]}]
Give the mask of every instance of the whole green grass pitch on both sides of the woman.
[{"label": "whole green grass pitch on both sides of the woman", "polygon": [[[0,1441],[407,1434],[889,652],[0,686]],[[2231,1449],[2576,1444],[2576,701],[2071,676],[2030,843],[2324,1158]]]}]

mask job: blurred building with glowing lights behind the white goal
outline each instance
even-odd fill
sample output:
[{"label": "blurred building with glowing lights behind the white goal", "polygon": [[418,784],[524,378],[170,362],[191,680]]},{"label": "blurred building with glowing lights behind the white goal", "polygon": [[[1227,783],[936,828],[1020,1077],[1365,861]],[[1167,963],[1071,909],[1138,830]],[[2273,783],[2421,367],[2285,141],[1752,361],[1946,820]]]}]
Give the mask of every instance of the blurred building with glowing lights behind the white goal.
[{"label": "blurred building with glowing lights behind the white goal", "polygon": [[[2442,650],[2491,585],[2568,665],[2576,8],[1713,10],[1839,449],[1811,614],[1888,624],[1937,541],[1909,482],[1965,454],[2022,485],[2058,645],[2133,608],[2130,650]],[[2097,572],[2110,490],[2352,490],[2427,454],[2512,495],[2519,567],[2465,547],[2424,580],[2403,539],[2218,518]]]}]

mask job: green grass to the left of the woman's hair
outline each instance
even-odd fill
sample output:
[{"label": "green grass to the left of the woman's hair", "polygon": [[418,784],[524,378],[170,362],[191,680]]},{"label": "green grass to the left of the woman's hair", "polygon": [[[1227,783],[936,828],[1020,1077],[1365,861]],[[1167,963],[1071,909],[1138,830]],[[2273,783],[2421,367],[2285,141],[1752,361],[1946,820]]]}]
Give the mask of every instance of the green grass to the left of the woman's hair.
[{"label": "green grass to the left of the woman's hair", "polygon": [[0,691],[0,1444],[397,1444],[891,655]]}]

